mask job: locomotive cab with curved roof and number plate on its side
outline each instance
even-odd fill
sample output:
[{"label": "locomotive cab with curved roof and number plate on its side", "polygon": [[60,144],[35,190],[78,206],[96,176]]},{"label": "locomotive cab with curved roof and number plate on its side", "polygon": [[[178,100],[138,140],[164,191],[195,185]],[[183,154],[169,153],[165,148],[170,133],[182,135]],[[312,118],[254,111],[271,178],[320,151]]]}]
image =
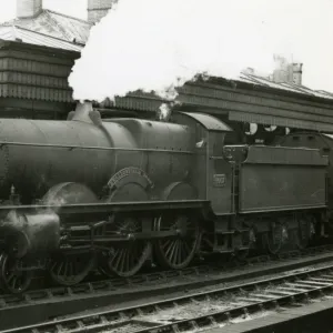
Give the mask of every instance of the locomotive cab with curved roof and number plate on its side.
[{"label": "locomotive cab with curved roof and number plate on its side", "polygon": [[192,179],[200,198],[211,202],[215,215],[233,213],[235,169],[223,153],[225,134],[232,132],[232,129],[219,119],[203,113],[179,112],[173,115],[173,120],[191,129],[192,141],[195,142]]}]

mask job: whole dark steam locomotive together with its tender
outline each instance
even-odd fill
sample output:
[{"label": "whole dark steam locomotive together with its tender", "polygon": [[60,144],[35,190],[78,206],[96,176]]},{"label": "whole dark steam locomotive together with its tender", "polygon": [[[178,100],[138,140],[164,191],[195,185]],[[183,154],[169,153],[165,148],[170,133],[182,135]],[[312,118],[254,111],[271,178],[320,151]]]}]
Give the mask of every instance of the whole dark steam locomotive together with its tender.
[{"label": "whole dark steam locomotive together with its tender", "polygon": [[101,119],[89,103],[68,121],[0,120],[2,287],[24,291],[37,270],[71,285],[95,268],[306,246],[329,222],[329,153],[289,137],[226,145],[231,132],[202,113]]}]

